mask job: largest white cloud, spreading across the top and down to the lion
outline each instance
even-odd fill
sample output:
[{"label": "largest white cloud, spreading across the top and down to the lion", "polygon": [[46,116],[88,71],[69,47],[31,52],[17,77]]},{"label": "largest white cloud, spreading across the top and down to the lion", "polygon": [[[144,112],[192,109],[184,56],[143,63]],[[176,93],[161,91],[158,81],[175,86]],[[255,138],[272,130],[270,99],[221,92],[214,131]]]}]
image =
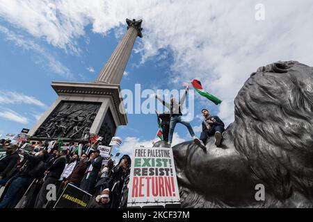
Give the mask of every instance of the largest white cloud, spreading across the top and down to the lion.
[{"label": "largest white cloud, spreading across the top and down to the lion", "polygon": [[[264,21],[255,20],[257,3],[265,6]],[[225,123],[234,119],[234,97],[257,67],[278,60],[313,65],[312,14],[310,0],[0,0],[0,17],[73,52],[79,52],[76,40],[88,24],[105,35],[125,27],[126,17],[143,19],[144,37],[136,49],[142,62],[163,56],[160,49],[170,51],[169,79],[177,84],[201,80],[204,89],[223,100],[218,115]]]}]

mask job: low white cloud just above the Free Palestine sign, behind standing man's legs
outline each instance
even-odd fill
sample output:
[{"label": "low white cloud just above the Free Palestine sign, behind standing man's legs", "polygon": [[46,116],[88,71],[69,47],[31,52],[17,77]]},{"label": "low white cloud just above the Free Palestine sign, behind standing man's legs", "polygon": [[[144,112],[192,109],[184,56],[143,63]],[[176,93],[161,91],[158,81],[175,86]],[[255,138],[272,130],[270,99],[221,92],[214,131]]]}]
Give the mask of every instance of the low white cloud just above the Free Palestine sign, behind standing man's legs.
[{"label": "low white cloud just above the Free Palestine sign, behind standing man's legs", "polygon": [[[174,133],[172,137],[172,146],[180,144],[185,140],[179,137],[178,133]],[[119,148],[120,153],[130,155],[134,148],[139,146],[152,147],[154,140],[141,140],[138,137],[126,137],[123,141],[123,145]],[[121,155],[122,156],[122,155]]]}]

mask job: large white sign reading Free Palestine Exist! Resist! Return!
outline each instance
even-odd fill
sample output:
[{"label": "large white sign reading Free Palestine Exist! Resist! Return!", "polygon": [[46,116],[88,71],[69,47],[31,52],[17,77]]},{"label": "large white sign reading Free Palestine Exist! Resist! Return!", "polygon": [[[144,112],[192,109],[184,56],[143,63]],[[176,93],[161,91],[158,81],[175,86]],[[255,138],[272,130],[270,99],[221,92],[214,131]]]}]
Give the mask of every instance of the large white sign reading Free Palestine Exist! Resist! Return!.
[{"label": "large white sign reading Free Palestine Exist! Resist! Return!", "polygon": [[134,148],[127,207],[180,207],[171,148]]}]

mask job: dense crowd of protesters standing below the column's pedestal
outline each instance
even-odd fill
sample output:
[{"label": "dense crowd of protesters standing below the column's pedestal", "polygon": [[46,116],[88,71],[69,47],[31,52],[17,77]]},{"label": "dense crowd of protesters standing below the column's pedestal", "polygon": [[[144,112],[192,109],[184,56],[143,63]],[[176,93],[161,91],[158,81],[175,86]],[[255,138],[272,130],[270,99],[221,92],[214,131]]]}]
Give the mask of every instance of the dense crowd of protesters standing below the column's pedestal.
[{"label": "dense crowd of protesters standing below the column's pedestal", "polygon": [[87,207],[127,207],[127,193],[131,159],[123,155],[118,164],[111,158],[103,164],[103,157],[95,144],[85,143],[79,152],[79,144],[71,142],[60,146],[58,141],[32,142],[31,151],[25,144],[10,144],[0,140],[6,155],[0,159],[0,208],[54,207],[55,200],[47,200],[51,185],[56,187],[59,198],[67,184],[74,185],[93,195]]}]

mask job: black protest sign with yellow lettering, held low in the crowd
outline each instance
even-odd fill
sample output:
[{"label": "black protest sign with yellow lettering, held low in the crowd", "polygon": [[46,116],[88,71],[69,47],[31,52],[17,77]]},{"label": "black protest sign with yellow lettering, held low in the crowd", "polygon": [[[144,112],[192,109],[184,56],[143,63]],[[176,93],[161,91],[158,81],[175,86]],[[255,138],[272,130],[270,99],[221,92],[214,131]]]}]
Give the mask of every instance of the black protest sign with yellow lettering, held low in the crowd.
[{"label": "black protest sign with yellow lettering, held low in the crowd", "polygon": [[69,183],[58,198],[54,208],[86,208],[91,196],[86,191]]}]

